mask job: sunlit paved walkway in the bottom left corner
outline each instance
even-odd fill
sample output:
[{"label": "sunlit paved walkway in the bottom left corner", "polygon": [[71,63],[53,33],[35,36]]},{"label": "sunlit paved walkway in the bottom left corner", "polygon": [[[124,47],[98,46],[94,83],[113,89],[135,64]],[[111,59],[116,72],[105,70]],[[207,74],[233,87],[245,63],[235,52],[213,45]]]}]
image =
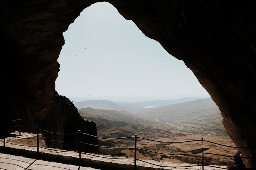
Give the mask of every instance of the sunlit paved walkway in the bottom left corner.
[{"label": "sunlit paved walkway in the bottom left corner", "polygon": [[[61,164],[56,162],[48,162],[44,160],[37,160],[26,158],[22,156],[14,156],[0,153],[0,169],[8,170],[78,170],[79,166]],[[96,170],[90,167],[80,167],[80,170]]]}]

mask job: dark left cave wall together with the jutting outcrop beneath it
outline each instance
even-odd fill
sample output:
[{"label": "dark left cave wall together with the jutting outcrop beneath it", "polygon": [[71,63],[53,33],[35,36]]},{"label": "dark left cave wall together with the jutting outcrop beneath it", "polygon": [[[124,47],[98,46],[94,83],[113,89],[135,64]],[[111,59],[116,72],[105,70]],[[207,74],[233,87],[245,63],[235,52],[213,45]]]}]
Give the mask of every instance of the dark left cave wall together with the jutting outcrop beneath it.
[{"label": "dark left cave wall together with the jutting outcrop beneath it", "polygon": [[[87,6],[91,3],[88,1]],[[82,11],[84,7],[72,6],[68,1],[1,1],[0,6],[0,135],[9,130],[6,128],[9,120],[21,118],[23,130],[39,126],[67,133],[80,129],[97,136],[96,124],[83,121],[69,100],[55,94],[57,59],[65,43],[62,32],[79,15],[74,11]],[[68,136],[44,135],[51,140],[70,140]],[[84,140],[87,141],[97,145],[94,138]],[[60,149],[77,148],[63,143],[47,144]],[[98,153],[95,147],[82,149]]]}]

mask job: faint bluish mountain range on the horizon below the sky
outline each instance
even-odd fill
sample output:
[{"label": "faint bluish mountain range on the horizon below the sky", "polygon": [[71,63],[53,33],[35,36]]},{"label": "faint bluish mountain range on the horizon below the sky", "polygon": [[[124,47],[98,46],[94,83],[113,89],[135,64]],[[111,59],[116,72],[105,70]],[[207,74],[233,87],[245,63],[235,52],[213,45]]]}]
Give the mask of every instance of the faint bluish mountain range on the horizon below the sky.
[{"label": "faint bluish mountain range on the horizon below the sky", "polygon": [[117,111],[122,111],[125,110],[129,113],[134,114],[134,112],[138,112],[144,107],[148,106],[164,106],[164,105],[171,105],[171,104],[177,104],[177,103],[182,103],[182,102],[187,102],[187,101],[193,101],[197,99],[202,99],[202,98],[181,98],[181,99],[175,99],[175,100],[155,100],[155,101],[145,101],[145,102],[134,102],[134,103],[128,103],[128,102],[112,102],[109,100],[86,100],[86,101],[81,101],[81,102],[74,102],[74,105],[76,106],[77,109],[80,108],[86,108],[86,107],[91,107],[91,108],[101,108],[101,109],[109,109],[109,110],[117,110]]}]

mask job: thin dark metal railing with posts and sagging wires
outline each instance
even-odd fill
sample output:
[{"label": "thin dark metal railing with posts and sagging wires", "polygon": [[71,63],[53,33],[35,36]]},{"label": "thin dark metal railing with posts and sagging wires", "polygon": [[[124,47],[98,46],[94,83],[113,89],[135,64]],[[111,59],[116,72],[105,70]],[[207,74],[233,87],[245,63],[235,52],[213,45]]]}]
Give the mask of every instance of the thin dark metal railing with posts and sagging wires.
[{"label": "thin dark metal railing with posts and sagging wires", "polygon": [[[20,132],[20,120],[21,119],[17,119],[19,120],[19,135],[21,134]],[[13,120],[13,121],[17,121],[17,120]],[[204,166],[208,166],[208,167],[215,167],[215,168],[221,168],[221,169],[228,169],[228,168],[222,168],[222,167],[216,167],[216,166],[212,166],[212,165],[205,165],[204,164],[204,154],[209,154],[209,155],[217,155],[217,156],[224,156],[224,157],[232,157],[232,158],[246,158],[246,159],[252,159],[252,157],[240,157],[240,156],[232,156],[232,155],[222,155],[222,154],[215,154],[215,153],[209,153],[209,152],[204,152],[204,142],[208,142],[208,143],[213,143],[215,145],[219,145],[219,146],[224,146],[224,147],[230,147],[230,148],[237,148],[237,149],[249,149],[248,147],[233,147],[233,146],[228,146],[228,145],[223,145],[220,143],[216,143],[216,142],[212,142],[212,141],[208,141],[208,140],[203,140],[203,138],[201,138],[201,140],[188,140],[188,141],[159,141],[159,140],[154,140],[154,139],[147,139],[147,138],[143,138],[143,137],[138,137],[137,134],[134,136],[128,136],[128,137],[118,137],[118,138],[105,138],[105,137],[98,137],[98,136],[94,136],[91,134],[86,134],[86,133],[82,133],[81,130],[79,130],[78,132],[72,132],[72,133],[55,133],[55,132],[50,132],[50,131],[46,131],[43,129],[39,129],[37,127],[37,129],[31,129],[31,130],[36,130],[37,131],[37,137],[34,138],[30,138],[30,139],[35,139],[37,138],[37,155],[39,156],[39,148],[44,148],[47,150],[53,150],[53,151],[58,151],[58,152],[72,152],[72,153],[79,153],[79,165],[81,165],[81,153],[87,154],[87,155],[91,155],[91,156],[96,156],[96,157],[101,157],[101,158],[108,158],[108,159],[132,159],[134,160],[134,170],[136,170],[136,161],[141,161],[141,162],[145,162],[151,165],[155,165],[155,166],[160,166],[160,167],[170,167],[170,168],[184,168],[184,167],[195,167],[195,166],[202,166],[202,169],[204,169]],[[39,138],[39,130],[42,132],[46,132],[46,133],[52,133],[52,134],[58,134],[58,135],[69,135],[69,134],[78,134],[78,142],[77,141],[57,141],[57,140],[50,140],[50,139],[44,139],[44,138]],[[96,137],[96,138],[100,138],[100,139],[127,139],[127,138],[134,138],[134,148],[133,147],[110,147],[110,146],[100,146],[100,145],[94,145],[91,143],[85,143],[81,141],[81,135],[87,135],[87,136],[92,136],[92,137]],[[16,136],[17,137],[17,136]],[[22,137],[17,137],[17,138],[22,138]],[[161,152],[156,152],[156,151],[152,151],[152,150],[146,150],[146,149],[142,149],[142,148],[138,148],[137,147],[137,139],[144,139],[144,140],[148,140],[148,141],[156,141],[156,142],[161,142],[161,143],[185,143],[185,142],[201,142],[201,152],[194,152],[194,153],[161,153]],[[77,143],[78,144],[78,152],[77,151],[60,151],[60,150],[54,150],[54,149],[50,149],[50,148],[45,148],[45,147],[39,147],[39,139],[41,140],[47,140],[47,141],[53,141],[53,142],[63,142],[63,143]],[[18,146],[27,146],[27,147],[35,147],[35,146],[28,146],[28,145],[19,145],[19,144],[15,144],[15,143],[11,143],[11,142],[6,142],[5,141],[5,137],[3,140],[3,147],[5,147],[5,143],[10,143],[12,145],[18,145]],[[134,149],[134,158],[114,158],[114,157],[104,157],[104,156],[99,156],[99,155],[93,155],[93,154],[89,154],[89,153],[85,153],[81,151],[81,145],[89,145],[89,146],[97,146],[97,147],[101,147],[101,148],[119,148],[119,149]],[[189,165],[189,166],[164,166],[164,165],[158,165],[158,164],[153,164],[150,162],[147,162],[145,160],[141,160],[141,159],[137,159],[137,150],[141,150],[141,151],[146,151],[146,152],[152,152],[152,153],[157,153],[157,154],[165,154],[165,155],[194,155],[194,154],[201,154],[202,157],[202,165]]]}]

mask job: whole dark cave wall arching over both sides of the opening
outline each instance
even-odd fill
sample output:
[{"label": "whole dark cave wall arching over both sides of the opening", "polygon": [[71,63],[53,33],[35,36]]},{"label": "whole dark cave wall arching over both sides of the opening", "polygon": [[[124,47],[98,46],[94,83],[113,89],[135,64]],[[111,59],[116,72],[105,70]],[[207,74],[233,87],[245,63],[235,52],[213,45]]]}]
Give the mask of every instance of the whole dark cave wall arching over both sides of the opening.
[{"label": "whole dark cave wall arching over both sides of the opening", "polygon": [[[1,117],[22,116],[28,128],[52,114],[64,44],[62,32],[91,0],[1,4]],[[254,1],[108,0],[148,37],[183,60],[209,92],[238,147],[256,144],[256,22]],[[56,120],[57,121],[57,120]],[[62,125],[65,126],[65,125]],[[256,151],[240,149],[241,156]],[[256,167],[255,159],[243,159]]]}]

